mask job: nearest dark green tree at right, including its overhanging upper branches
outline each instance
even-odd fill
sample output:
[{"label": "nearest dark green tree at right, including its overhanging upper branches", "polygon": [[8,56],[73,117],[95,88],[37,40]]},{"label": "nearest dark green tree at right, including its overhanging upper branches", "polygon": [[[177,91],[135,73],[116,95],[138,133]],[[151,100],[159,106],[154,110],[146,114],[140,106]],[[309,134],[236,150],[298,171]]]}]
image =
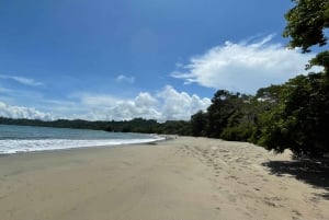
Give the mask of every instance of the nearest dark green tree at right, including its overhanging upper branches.
[{"label": "nearest dark green tree at right, including its overhanging upper branches", "polygon": [[[329,0],[293,0],[295,7],[285,19],[283,36],[291,37],[291,48],[303,53],[327,44]],[[325,67],[324,72],[298,76],[285,83],[279,103],[265,111],[258,143],[268,150],[291,149],[297,157],[319,157],[329,152],[329,51],[319,53],[306,69]]]}]

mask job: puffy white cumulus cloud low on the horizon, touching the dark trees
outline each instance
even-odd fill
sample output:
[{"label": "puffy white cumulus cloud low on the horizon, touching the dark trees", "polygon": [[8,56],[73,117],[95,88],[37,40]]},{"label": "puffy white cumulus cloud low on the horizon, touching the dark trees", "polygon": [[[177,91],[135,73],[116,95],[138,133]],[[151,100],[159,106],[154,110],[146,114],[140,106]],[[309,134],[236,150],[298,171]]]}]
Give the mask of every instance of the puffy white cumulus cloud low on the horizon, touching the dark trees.
[{"label": "puffy white cumulus cloud low on the horizon, touching the dark trees", "polygon": [[191,115],[205,111],[209,105],[211,100],[207,97],[189,95],[167,85],[155,95],[140,92],[135,99],[117,100],[106,109],[102,108],[104,105],[99,105],[100,108],[89,113],[88,117],[107,120],[129,120],[136,117],[158,121],[188,120]]}]

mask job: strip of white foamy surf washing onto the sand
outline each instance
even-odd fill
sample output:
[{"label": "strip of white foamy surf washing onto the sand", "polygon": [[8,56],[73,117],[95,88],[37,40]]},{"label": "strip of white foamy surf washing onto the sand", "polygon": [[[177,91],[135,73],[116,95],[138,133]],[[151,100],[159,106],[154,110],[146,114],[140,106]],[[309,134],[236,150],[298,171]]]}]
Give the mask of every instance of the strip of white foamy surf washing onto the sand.
[{"label": "strip of white foamy surf washing onto the sand", "polygon": [[70,139],[42,139],[42,140],[0,140],[0,154],[19,152],[34,152],[46,150],[60,150],[72,148],[90,148],[101,146],[118,146],[132,143],[146,143],[162,140],[161,137],[152,139],[99,139],[99,140],[70,140]]}]

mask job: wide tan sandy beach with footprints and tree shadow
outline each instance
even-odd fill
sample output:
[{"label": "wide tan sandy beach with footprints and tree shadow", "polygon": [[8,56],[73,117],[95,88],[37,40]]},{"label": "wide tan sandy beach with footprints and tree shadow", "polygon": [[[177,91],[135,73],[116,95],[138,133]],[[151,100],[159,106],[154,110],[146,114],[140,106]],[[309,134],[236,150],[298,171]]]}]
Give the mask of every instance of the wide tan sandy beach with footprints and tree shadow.
[{"label": "wide tan sandy beach with footprints and tree shadow", "polygon": [[0,158],[1,220],[329,219],[328,169],[185,138]]}]

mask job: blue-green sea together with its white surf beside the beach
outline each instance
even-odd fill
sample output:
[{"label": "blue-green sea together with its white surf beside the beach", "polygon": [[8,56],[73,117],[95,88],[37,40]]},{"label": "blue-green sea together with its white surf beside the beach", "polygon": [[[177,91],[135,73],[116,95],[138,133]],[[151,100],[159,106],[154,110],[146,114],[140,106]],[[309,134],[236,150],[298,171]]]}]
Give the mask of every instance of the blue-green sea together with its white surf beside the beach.
[{"label": "blue-green sea together with its white surf beside the beach", "polygon": [[145,143],[162,139],[144,134],[0,125],[0,154]]}]

